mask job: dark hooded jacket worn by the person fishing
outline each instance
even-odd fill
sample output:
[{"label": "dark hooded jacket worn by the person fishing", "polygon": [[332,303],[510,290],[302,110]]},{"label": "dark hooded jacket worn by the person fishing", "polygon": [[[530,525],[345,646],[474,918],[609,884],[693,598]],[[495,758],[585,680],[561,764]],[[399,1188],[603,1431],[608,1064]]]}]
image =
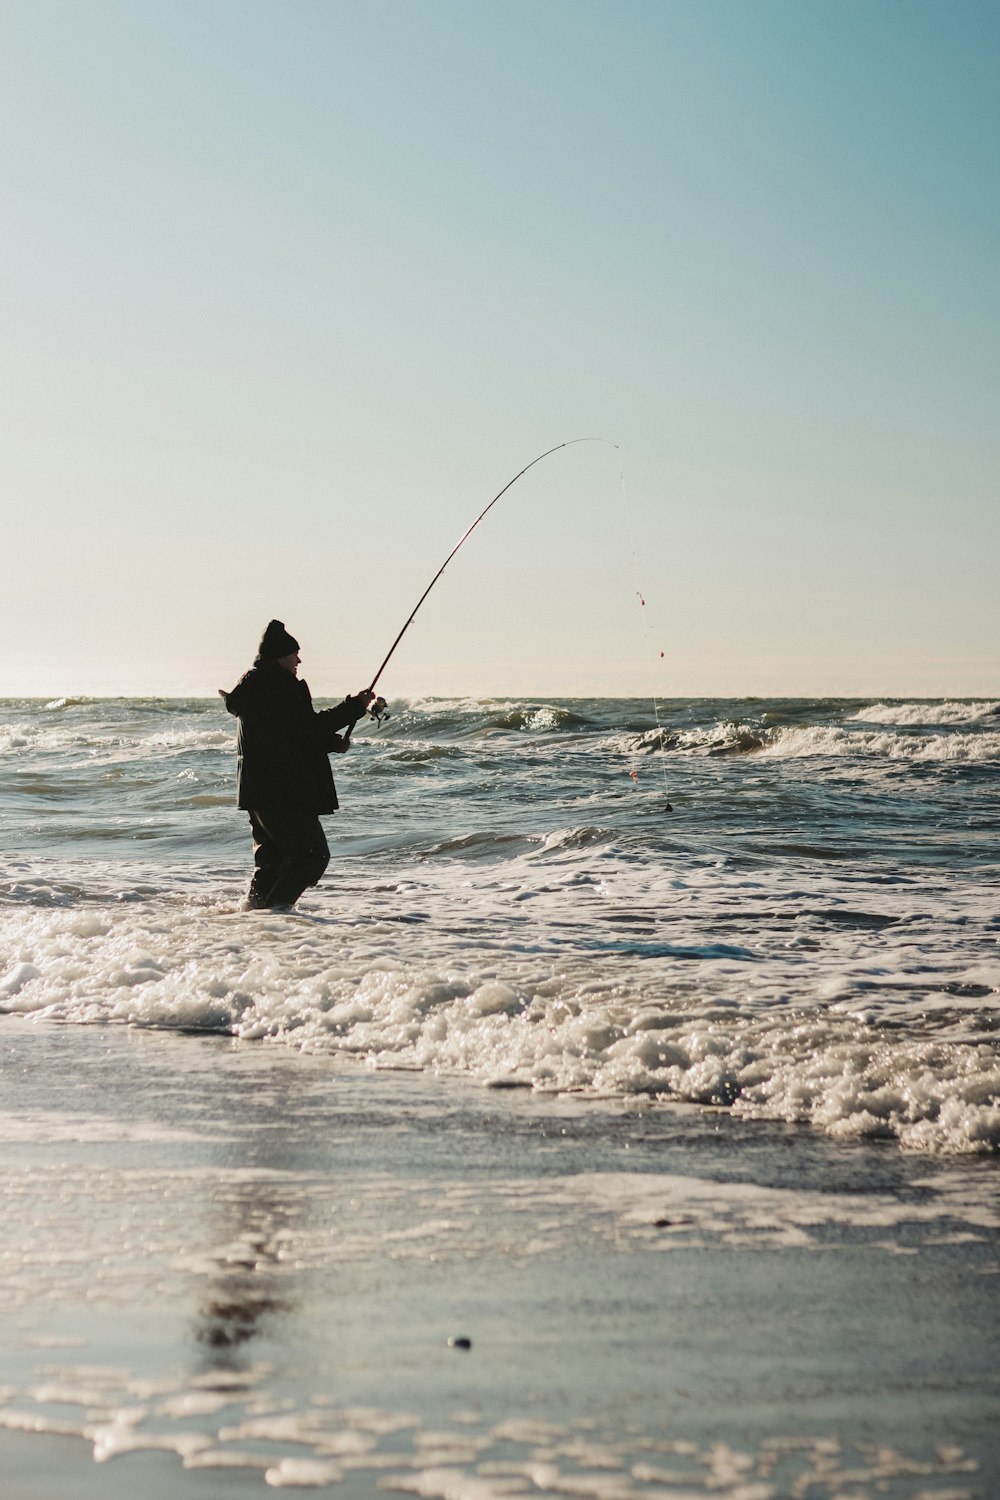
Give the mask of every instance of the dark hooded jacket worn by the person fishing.
[{"label": "dark hooded jacket worn by the person fishing", "polygon": [[337,734],[361,717],[346,698],[321,712],[306,682],[277,662],[258,657],[225,705],[240,720],[237,734],[237,806],[247,812],[333,813],[337,789],[327,759],[346,748]]}]

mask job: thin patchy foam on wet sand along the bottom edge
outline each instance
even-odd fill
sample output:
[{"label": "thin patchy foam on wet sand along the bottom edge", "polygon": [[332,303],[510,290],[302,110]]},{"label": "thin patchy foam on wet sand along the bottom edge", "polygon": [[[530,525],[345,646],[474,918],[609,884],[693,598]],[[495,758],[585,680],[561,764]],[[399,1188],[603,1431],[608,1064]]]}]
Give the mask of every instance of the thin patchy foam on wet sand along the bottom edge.
[{"label": "thin patchy foam on wet sand along the bottom edge", "polygon": [[[610,1204],[595,1204],[607,1209]],[[73,1378],[73,1371],[66,1371]],[[262,1474],[273,1488],[316,1490],[349,1476],[370,1491],[436,1497],[436,1500],[508,1500],[543,1491],[552,1496],[586,1496],[589,1500],[697,1500],[706,1492],[720,1500],[777,1500],[778,1492],[870,1496],[906,1485],[913,1500],[973,1500],[984,1472],[958,1443],[909,1452],[877,1443],[874,1436],[855,1450],[844,1434],[787,1428],[747,1434],[739,1446],[723,1440],[693,1442],[673,1432],[642,1431],[636,1424],[616,1428],[612,1420],[553,1422],[507,1418],[490,1422],[481,1412],[453,1414],[456,1430],[426,1426],[409,1413],[373,1408],[334,1408],[309,1401],[286,1401],[282,1418],[259,1424],[246,1419],[213,1430],[210,1413],[199,1430],[153,1430],[148,1407],[132,1392],[142,1384],[120,1374],[120,1404],[99,1420],[57,1420],[22,1396],[16,1407],[0,1408],[0,1426],[39,1434],[88,1437],[97,1462],[123,1454],[159,1450],[180,1456],[186,1470],[246,1470]],[[222,1378],[222,1371],[213,1372]],[[175,1384],[178,1410],[184,1390]],[[40,1400],[40,1398],[39,1398]],[[234,1400],[240,1400],[234,1394]],[[165,1414],[159,1414],[162,1424]],[[675,1424],[672,1424],[673,1426]],[[369,1432],[387,1440],[373,1444]],[[874,1434],[879,1432],[876,1426]],[[240,1446],[232,1446],[238,1443]],[[270,1444],[300,1449],[277,1456]],[[781,1491],[775,1479],[781,1474]],[[933,1488],[915,1488],[930,1480]],[[949,1482],[942,1488],[942,1482]],[[955,1485],[955,1480],[972,1482]],[[898,1490],[903,1494],[903,1490]]]}]

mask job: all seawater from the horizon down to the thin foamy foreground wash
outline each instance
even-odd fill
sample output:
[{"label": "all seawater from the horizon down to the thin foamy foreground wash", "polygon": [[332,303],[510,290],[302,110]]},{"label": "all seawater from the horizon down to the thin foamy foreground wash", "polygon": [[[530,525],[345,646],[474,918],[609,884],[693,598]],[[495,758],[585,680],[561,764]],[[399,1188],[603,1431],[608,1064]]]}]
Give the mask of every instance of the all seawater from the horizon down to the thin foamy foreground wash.
[{"label": "all seawater from the horizon down to the thin foamy foreground wash", "polygon": [[1000,702],[234,729],[0,704],[1,1500],[1000,1492]]}]

